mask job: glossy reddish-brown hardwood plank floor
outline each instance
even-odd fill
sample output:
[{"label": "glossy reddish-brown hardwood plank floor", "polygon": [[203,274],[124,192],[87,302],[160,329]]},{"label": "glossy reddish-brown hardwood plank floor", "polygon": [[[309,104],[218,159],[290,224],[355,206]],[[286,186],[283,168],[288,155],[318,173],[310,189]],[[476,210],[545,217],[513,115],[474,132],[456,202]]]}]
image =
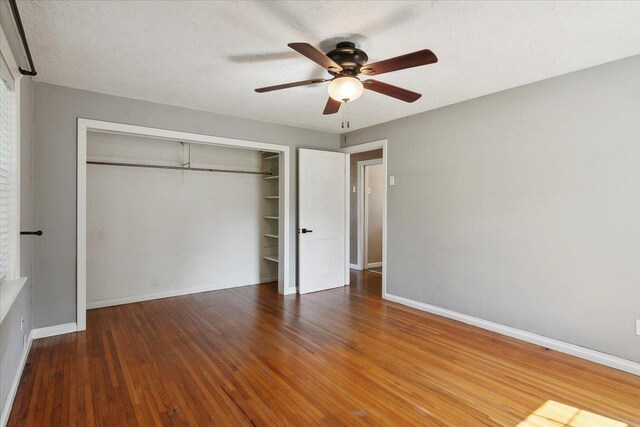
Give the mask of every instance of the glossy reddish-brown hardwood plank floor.
[{"label": "glossy reddish-brown hardwood plank floor", "polygon": [[640,425],[640,377],[384,301],[380,280],[91,310],[33,343],[9,425]]}]

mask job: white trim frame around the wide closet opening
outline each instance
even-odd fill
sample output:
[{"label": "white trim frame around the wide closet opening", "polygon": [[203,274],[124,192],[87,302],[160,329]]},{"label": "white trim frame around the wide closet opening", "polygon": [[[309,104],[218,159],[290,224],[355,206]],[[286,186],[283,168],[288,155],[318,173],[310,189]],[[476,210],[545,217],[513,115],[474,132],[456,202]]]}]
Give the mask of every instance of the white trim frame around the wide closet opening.
[{"label": "white trim frame around the wide closet opening", "polygon": [[78,118],[77,122],[77,187],[76,187],[76,329],[84,331],[87,327],[87,137],[89,132],[105,132],[124,135],[135,135],[157,139],[193,142],[197,144],[223,147],[243,148],[248,150],[272,151],[280,154],[279,159],[279,230],[282,235],[278,239],[278,292],[284,295],[296,292],[295,282],[290,275],[290,147],[288,145],[270,144],[241,139],[158,129],[146,126],[128,125]]}]

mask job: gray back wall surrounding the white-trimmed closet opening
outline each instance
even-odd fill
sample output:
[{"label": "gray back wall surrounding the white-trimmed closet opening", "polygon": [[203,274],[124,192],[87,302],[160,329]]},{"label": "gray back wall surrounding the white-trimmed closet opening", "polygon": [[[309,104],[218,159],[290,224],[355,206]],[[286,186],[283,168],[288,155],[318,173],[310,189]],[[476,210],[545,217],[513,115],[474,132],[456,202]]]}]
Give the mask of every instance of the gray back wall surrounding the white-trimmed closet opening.
[{"label": "gray back wall surrounding the white-trimmed closet opening", "polygon": [[[216,102],[212,99],[211,102]],[[35,248],[34,326],[76,320],[76,119],[78,117],[206,135],[339,149],[339,136],[145,101],[34,85],[34,209],[44,231]],[[291,156],[291,215],[296,218],[297,153]],[[291,224],[295,255],[296,221]],[[295,258],[292,258],[295,260]],[[291,263],[295,278],[295,262]]]}]

